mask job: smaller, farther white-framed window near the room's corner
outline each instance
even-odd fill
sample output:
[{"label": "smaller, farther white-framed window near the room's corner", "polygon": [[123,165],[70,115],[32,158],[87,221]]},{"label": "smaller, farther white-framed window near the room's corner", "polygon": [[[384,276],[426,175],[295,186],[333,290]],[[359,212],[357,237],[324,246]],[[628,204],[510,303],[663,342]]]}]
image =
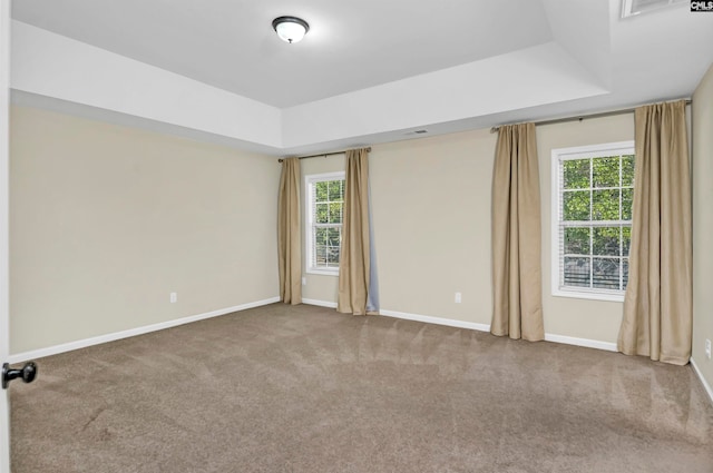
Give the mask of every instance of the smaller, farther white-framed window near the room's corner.
[{"label": "smaller, farther white-framed window near the room's corner", "polygon": [[307,273],[339,274],[344,173],[305,177]]}]

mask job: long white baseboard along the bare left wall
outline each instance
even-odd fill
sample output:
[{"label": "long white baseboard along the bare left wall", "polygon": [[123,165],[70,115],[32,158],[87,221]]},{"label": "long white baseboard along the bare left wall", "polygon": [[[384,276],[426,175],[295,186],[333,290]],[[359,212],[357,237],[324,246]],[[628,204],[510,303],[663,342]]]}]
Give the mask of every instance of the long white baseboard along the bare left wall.
[{"label": "long white baseboard along the bare left wall", "polygon": [[59,353],[70,352],[72,349],[86,348],[92,345],[99,345],[107,342],[114,342],[121,338],[128,338],[137,335],[144,335],[149,332],[163,331],[178,325],[189,324],[192,322],[203,321],[205,318],[217,317],[233,312],[245,311],[253,307],[260,307],[267,304],[280,302],[280,297],[271,297],[264,300],[237,305],[234,307],[221,308],[217,311],[206,312],[205,314],[192,315],[188,317],[176,318],[173,321],[160,322],[158,324],[145,325],[143,327],[129,328],[127,331],[115,332],[111,334],[99,335],[91,338],[79,339],[76,342],[64,343],[61,345],[49,346],[47,348],[32,349],[29,352],[10,355],[9,363],[21,363],[28,359],[41,358],[43,356],[57,355]]}]

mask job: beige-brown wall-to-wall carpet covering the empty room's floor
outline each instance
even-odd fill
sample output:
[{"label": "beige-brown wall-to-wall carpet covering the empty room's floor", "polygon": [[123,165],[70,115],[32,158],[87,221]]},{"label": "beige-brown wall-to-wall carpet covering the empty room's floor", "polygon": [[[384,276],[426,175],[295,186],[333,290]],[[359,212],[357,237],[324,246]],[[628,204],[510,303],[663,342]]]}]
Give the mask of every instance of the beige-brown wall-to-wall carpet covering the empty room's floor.
[{"label": "beige-brown wall-to-wall carpet covering the empty room's floor", "polygon": [[713,472],[688,366],[270,305],[39,359],[13,473]]}]

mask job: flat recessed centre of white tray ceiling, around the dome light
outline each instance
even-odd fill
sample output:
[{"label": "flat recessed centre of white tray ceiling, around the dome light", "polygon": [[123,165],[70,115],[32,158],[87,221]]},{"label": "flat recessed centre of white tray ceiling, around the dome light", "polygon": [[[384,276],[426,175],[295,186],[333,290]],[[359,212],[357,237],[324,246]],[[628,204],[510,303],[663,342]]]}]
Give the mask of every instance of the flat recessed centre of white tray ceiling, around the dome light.
[{"label": "flat recessed centre of white tray ceiling, around the dome light", "polygon": [[[285,14],[310,23],[302,42],[277,40]],[[16,0],[12,16],[276,107],[551,39],[533,0]]]}]

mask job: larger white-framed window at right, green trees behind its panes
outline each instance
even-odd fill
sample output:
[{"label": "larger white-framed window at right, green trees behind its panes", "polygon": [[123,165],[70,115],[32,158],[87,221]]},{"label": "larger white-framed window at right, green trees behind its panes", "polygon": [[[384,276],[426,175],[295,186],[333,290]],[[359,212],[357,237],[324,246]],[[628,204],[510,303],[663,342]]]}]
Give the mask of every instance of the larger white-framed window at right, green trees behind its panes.
[{"label": "larger white-framed window at right, green trees behind its panes", "polygon": [[634,142],[553,150],[553,294],[623,300]]}]

